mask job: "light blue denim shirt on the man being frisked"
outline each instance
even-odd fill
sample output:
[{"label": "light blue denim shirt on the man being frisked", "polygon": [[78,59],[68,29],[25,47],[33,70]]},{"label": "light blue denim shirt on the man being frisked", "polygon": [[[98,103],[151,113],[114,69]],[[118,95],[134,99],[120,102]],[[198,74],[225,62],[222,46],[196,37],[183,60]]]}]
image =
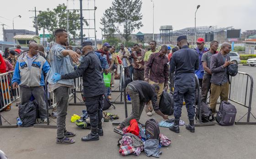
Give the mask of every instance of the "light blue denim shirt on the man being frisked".
[{"label": "light blue denim shirt on the man being frisked", "polygon": [[[70,63],[69,56],[63,56],[62,54],[62,51],[64,50],[64,46],[54,42],[53,46],[49,51],[49,62],[51,65],[51,70],[48,72],[49,77],[47,82],[50,84],[56,84],[51,80],[54,73],[64,75],[70,72],[74,72],[74,68]],[[74,85],[74,79],[61,79],[58,81],[58,83],[65,85]]]}]

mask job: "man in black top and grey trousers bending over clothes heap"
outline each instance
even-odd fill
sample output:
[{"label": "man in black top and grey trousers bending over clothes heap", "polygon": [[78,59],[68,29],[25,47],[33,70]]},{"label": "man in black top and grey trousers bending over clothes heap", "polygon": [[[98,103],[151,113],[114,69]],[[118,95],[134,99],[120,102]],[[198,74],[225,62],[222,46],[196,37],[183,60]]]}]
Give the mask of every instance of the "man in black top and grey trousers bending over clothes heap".
[{"label": "man in black top and grey trousers bending over clothes heap", "polygon": [[132,100],[132,113],[128,116],[122,123],[120,123],[114,132],[118,134],[123,134],[122,129],[129,125],[130,120],[136,119],[139,123],[139,118],[143,111],[145,103],[152,101],[153,109],[155,113],[163,117],[165,120],[168,119],[168,115],[164,115],[159,110],[159,105],[157,102],[157,92],[159,91],[159,86],[157,84],[149,84],[145,81],[133,81],[126,87],[127,94]]}]

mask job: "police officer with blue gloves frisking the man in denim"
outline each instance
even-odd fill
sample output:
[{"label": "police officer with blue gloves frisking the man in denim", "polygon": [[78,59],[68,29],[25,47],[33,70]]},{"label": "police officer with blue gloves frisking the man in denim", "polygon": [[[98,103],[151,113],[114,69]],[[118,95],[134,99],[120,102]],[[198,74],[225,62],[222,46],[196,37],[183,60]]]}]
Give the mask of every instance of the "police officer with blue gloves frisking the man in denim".
[{"label": "police officer with blue gloves frisking the man in denim", "polygon": [[60,79],[83,77],[85,106],[90,116],[91,133],[83,137],[82,141],[94,141],[99,140],[99,135],[103,136],[101,102],[106,89],[101,76],[101,62],[98,56],[93,53],[93,48],[89,42],[83,45],[83,51],[85,56],[74,72],[65,75],[55,73],[52,79],[55,82]]}]

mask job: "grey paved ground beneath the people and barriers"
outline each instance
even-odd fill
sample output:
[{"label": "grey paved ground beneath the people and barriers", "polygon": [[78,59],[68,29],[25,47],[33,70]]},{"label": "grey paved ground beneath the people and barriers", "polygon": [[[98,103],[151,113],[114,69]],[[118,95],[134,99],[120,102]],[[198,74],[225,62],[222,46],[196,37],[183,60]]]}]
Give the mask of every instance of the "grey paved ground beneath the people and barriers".
[{"label": "grey paved ground beneath the people and barriers", "polygon": [[[240,66],[239,70],[248,72],[256,80],[256,67]],[[79,95],[80,97],[80,95]],[[117,93],[113,93],[113,98]],[[253,97],[256,97],[254,90]],[[237,108],[237,119],[246,113],[246,109],[235,104]],[[256,103],[253,101],[252,111],[256,114]],[[113,133],[112,122],[103,123],[104,136],[99,141],[82,142],[80,138],[89,130],[80,129],[70,122],[73,114],[81,114],[85,106],[69,106],[67,115],[67,129],[77,133],[74,137],[76,143],[72,145],[55,144],[56,129],[50,128],[3,128],[0,129],[0,149],[3,150],[10,159],[122,159],[118,154],[117,140],[120,137]],[[131,106],[128,105],[128,112]],[[10,112],[3,112],[2,115],[11,123],[15,123],[17,108],[12,106]],[[124,106],[116,105],[116,109],[107,110],[110,113],[120,115],[118,121],[124,119]],[[152,118],[161,120],[155,113]],[[170,116],[173,118],[173,116]],[[141,122],[149,119],[145,113],[142,114]],[[182,120],[186,123],[186,108],[182,110]],[[54,122],[51,122],[54,124]],[[4,123],[6,124],[6,123]],[[196,159],[196,158],[217,158],[217,159],[255,159],[256,147],[256,125],[234,125],[234,126],[214,126],[197,127],[195,133],[190,133],[181,126],[179,134],[171,132],[168,128],[160,128],[160,132],[171,139],[169,147],[161,148],[162,159]],[[127,156],[132,159],[134,156]],[[142,153],[137,157],[147,159]]]}]

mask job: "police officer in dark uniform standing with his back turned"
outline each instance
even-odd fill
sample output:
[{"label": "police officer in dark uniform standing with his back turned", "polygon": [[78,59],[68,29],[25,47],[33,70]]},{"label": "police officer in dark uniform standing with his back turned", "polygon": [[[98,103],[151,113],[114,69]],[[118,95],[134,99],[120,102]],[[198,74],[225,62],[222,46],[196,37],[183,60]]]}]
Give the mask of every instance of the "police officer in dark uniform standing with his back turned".
[{"label": "police officer in dark uniform standing with his back turned", "polygon": [[194,126],[194,100],[195,100],[195,70],[199,67],[197,51],[187,46],[187,36],[177,38],[177,46],[181,50],[176,51],[171,57],[170,73],[175,71],[174,77],[174,117],[175,122],[169,129],[175,133],[180,132],[179,122],[181,117],[181,108],[183,98],[186,102],[187,116],[189,124],[186,129],[195,132]]}]

